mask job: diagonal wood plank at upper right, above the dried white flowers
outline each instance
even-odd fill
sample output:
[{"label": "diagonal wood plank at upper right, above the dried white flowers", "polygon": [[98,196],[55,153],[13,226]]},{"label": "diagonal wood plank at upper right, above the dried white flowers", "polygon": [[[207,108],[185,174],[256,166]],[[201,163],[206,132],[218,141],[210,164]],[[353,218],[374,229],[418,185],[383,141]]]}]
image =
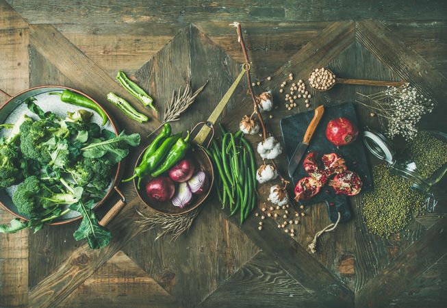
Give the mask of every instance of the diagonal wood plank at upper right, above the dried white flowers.
[{"label": "diagonal wood plank at upper right, above the dried white flowers", "polygon": [[[356,38],[371,53],[389,66],[404,80],[415,86],[426,97],[439,103],[437,112],[447,114],[446,97],[447,78],[418,55],[407,44],[401,42],[383,23],[379,21],[359,21],[356,23]],[[446,129],[447,122],[439,123],[437,116],[430,114],[422,119],[425,129]]]}]

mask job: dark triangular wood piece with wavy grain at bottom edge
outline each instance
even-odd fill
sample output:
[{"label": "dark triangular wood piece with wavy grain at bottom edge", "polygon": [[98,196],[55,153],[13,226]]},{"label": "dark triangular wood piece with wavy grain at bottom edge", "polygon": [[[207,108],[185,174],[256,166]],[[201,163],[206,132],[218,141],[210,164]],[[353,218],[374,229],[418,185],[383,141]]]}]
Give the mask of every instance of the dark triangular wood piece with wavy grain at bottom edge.
[{"label": "dark triangular wood piece with wavy grain at bottom edge", "polygon": [[321,307],[305,288],[260,252],[198,307]]}]

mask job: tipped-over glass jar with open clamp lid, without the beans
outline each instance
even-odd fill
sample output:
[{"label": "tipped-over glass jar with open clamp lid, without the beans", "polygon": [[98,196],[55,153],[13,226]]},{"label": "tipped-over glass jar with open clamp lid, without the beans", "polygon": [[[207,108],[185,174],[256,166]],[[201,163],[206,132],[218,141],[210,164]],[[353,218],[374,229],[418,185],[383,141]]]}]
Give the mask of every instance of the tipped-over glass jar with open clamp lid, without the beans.
[{"label": "tipped-over glass jar with open clamp lid, without the beans", "polygon": [[[445,142],[447,146],[446,133],[440,131],[420,131],[420,134],[426,137],[427,144],[424,145],[426,147],[431,146],[429,140],[433,141],[433,138],[440,142]],[[438,200],[447,200],[445,188],[439,185],[447,173],[447,163],[442,164],[435,170],[431,170],[432,172],[428,172],[426,170],[427,168],[425,168],[426,166],[422,166],[420,159],[417,163],[418,159],[415,160],[414,157],[411,157],[411,146],[414,145],[411,142],[403,151],[396,153],[392,142],[382,133],[366,129],[366,131],[363,131],[362,136],[363,143],[372,155],[387,162],[387,166],[392,173],[410,181],[412,183],[411,188],[425,194],[427,211],[434,211]],[[438,141],[435,143],[438,143]],[[427,149],[426,153],[430,153],[428,148],[425,149]],[[441,155],[447,155],[447,151],[446,153],[441,153]],[[426,157],[426,164],[428,166],[432,166],[430,159],[431,157]]]}]

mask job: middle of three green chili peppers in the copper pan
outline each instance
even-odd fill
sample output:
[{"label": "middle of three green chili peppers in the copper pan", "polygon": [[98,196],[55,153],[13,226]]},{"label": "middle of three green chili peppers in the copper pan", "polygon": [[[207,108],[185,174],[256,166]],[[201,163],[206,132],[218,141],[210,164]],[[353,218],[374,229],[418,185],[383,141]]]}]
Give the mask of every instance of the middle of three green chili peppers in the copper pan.
[{"label": "middle of three green chili peppers in the copper pan", "polygon": [[174,136],[170,136],[164,140],[161,146],[146,160],[143,160],[134,170],[133,176],[129,177],[129,179],[123,180],[123,182],[128,182],[136,177],[138,177],[138,189],[140,188],[140,181],[143,177],[150,175],[151,172],[162,162],[164,157],[168,155],[170,149],[172,149],[173,145],[177,140],[181,138],[181,133],[177,133]]}]

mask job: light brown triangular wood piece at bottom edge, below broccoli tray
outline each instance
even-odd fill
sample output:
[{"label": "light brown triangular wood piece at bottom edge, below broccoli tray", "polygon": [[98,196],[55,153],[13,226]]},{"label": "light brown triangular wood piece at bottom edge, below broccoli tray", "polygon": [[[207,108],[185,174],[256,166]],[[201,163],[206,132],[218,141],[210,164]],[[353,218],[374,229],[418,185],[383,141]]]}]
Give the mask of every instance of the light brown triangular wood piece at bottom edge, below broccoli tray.
[{"label": "light brown triangular wood piece at bottom edge, below broccoli tray", "polygon": [[118,251],[58,307],[179,307],[127,255]]}]

